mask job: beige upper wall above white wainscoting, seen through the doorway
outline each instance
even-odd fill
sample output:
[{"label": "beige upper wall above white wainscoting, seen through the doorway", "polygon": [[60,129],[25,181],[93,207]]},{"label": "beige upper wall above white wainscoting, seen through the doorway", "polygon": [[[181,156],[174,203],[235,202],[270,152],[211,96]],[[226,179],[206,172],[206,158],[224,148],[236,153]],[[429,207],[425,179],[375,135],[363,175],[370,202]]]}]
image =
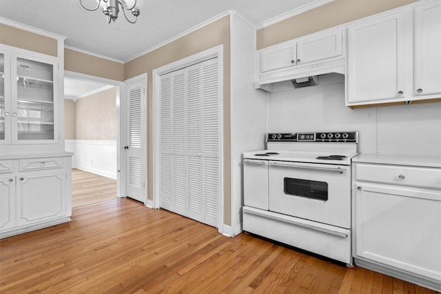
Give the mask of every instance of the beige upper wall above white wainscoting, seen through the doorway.
[{"label": "beige upper wall above white wainscoting, seen through the doorway", "polygon": [[75,139],[116,141],[116,88],[77,99]]}]

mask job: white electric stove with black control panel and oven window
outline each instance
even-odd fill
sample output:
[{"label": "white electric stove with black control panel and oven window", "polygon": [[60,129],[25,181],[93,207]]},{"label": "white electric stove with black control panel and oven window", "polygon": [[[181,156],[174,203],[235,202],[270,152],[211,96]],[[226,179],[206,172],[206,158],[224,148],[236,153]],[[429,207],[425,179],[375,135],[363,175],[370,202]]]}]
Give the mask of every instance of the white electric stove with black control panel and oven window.
[{"label": "white electric stove with black control panel and oven window", "polygon": [[243,230],[346,264],[358,132],[269,133],[243,154]]}]

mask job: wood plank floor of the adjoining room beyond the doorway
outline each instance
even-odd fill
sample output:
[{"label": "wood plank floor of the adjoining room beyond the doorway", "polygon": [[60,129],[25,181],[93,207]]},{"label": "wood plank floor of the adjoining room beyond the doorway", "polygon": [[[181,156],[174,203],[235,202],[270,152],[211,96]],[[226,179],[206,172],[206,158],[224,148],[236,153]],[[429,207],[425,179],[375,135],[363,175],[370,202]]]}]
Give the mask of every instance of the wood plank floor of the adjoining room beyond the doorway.
[{"label": "wood plank floor of the adjoining room beyond the doorway", "polygon": [[72,207],[116,198],[116,179],[72,168]]}]

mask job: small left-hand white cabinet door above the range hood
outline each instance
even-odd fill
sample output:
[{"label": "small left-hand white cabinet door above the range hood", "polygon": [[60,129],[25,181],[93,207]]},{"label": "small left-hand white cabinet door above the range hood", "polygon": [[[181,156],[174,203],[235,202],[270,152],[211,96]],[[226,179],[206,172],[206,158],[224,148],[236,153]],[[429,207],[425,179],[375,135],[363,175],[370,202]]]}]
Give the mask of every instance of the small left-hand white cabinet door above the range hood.
[{"label": "small left-hand white cabinet door above the range hood", "polygon": [[296,43],[274,46],[260,52],[260,71],[278,70],[297,64]]}]

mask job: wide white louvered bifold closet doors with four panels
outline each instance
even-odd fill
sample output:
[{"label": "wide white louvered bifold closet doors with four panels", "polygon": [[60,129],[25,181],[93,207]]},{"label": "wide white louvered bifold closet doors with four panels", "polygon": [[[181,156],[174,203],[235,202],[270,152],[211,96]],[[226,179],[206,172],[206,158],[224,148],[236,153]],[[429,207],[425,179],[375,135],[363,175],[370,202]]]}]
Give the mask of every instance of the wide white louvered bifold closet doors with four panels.
[{"label": "wide white louvered bifold closet doors with four panels", "polygon": [[217,59],[161,76],[161,207],[218,226]]}]

